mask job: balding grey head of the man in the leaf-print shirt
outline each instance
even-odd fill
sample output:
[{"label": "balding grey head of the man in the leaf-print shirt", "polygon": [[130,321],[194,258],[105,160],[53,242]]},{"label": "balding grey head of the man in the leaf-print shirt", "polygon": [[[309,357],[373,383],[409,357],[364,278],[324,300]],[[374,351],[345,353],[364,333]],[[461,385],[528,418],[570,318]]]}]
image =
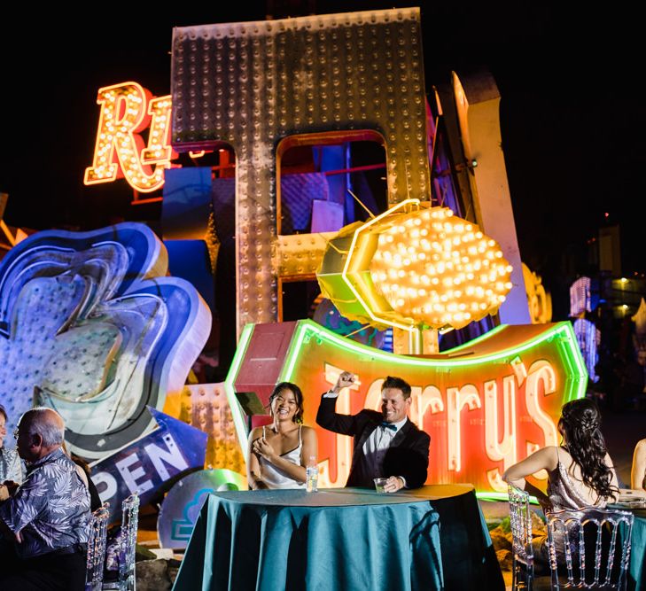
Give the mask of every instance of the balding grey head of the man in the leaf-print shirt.
[{"label": "balding grey head of the man in the leaf-print shirt", "polygon": [[51,454],[65,439],[65,421],[51,408],[31,408],[20,417],[18,451],[27,462]]}]

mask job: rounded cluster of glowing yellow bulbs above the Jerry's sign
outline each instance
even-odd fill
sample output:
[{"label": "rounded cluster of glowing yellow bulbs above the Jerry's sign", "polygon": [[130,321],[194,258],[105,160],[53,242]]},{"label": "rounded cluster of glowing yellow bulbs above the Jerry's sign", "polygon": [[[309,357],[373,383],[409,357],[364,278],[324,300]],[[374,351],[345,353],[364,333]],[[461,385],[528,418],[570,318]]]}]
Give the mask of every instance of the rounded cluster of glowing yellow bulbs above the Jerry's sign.
[{"label": "rounded cluster of glowing yellow bulbs above the Jerry's sign", "polygon": [[463,328],[494,314],[510,292],[511,267],[499,245],[448,207],[399,214],[376,230],[372,282],[417,325]]}]

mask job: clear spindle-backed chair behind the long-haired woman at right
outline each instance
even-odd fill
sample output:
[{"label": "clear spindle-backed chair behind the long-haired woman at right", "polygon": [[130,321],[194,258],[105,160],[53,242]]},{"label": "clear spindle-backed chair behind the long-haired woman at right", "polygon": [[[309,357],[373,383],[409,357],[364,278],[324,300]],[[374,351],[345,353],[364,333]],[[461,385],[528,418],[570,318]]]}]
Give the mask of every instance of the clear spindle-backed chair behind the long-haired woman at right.
[{"label": "clear spindle-backed chair behind the long-haired woman at right", "polygon": [[625,589],[634,516],[605,509],[548,511],[552,588]]}]

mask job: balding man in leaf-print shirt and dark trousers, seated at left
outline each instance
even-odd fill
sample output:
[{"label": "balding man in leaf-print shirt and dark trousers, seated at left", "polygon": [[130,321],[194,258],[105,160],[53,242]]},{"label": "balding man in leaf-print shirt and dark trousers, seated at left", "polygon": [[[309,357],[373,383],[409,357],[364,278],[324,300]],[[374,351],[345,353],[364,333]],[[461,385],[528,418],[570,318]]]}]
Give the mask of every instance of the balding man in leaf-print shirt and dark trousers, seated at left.
[{"label": "balding man in leaf-print shirt and dark trousers, seated at left", "polygon": [[17,447],[27,476],[0,502],[0,589],[85,587],[90,494],[61,447],[64,435],[63,419],[51,408],[20,417]]}]

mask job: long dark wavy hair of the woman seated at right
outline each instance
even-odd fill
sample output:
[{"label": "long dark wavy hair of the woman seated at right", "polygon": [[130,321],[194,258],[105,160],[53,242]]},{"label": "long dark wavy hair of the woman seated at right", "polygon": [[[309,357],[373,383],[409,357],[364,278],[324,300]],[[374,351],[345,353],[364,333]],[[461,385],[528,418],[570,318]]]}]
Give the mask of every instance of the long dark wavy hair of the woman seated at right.
[{"label": "long dark wavy hair of the woman seated at right", "polygon": [[572,400],[561,410],[558,431],[564,436],[567,451],[579,464],[583,482],[600,497],[611,497],[618,491],[611,486],[612,470],[605,463],[608,450],[599,426],[601,414],[594,400]]}]

